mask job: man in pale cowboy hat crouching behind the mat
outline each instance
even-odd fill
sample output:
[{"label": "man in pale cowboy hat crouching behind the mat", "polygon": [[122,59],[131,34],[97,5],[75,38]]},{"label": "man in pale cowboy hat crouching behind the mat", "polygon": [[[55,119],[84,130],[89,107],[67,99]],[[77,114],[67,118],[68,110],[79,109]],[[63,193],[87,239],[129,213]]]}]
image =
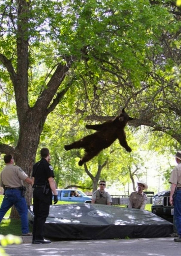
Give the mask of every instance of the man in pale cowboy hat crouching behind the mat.
[{"label": "man in pale cowboy hat crouching behind the mat", "polygon": [[144,210],[147,203],[147,195],[143,192],[144,189],[147,190],[148,186],[144,182],[138,182],[138,191],[132,192],[129,196],[128,208],[136,208]]}]

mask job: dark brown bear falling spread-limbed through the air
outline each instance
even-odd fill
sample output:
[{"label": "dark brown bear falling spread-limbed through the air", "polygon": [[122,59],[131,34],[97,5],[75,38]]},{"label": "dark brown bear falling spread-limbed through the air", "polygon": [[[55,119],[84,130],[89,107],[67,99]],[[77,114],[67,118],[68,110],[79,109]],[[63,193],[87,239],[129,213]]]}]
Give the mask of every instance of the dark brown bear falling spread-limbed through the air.
[{"label": "dark brown bear falling spread-limbed through the air", "polygon": [[84,148],[86,154],[79,161],[79,165],[82,166],[83,163],[89,161],[93,157],[99,154],[99,152],[108,148],[116,139],[119,139],[120,145],[126,149],[126,151],[131,152],[132,149],[126,142],[126,135],[124,132],[124,127],[129,120],[132,120],[128,114],[122,109],[120,115],[114,119],[108,120],[102,124],[86,125],[87,129],[96,130],[97,132],[83,137],[70,145],[64,145],[65,150],[71,150],[72,148]]}]

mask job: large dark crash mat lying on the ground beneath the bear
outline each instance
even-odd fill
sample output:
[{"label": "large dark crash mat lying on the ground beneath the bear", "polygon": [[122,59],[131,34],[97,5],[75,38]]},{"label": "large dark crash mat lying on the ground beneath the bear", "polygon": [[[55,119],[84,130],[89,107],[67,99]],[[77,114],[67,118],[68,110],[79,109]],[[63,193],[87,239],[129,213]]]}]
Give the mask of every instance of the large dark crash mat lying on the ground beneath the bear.
[{"label": "large dark crash mat lying on the ground beneath the bear", "polygon": [[[28,219],[33,222],[33,206]],[[171,222],[138,209],[101,204],[51,205],[44,236],[59,240],[168,237]]]}]

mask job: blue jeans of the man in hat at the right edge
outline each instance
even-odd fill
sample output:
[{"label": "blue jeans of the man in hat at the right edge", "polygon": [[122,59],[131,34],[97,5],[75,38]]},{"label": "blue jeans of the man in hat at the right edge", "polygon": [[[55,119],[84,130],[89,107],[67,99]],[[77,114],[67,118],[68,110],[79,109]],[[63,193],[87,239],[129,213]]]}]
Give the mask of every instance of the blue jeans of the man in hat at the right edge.
[{"label": "blue jeans of the man in hat at the right edge", "polygon": [[174,218],[175,218],[178,236],[181,237],[181,190],[178,190],[175,193]]}]

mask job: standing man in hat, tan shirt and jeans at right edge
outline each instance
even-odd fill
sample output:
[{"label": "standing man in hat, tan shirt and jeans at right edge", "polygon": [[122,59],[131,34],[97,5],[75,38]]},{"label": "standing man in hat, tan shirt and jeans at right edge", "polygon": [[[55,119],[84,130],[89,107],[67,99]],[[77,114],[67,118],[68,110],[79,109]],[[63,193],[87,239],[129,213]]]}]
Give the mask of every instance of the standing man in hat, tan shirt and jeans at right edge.
[{"label": "standing man in hat, tan shirt and jeans at right edge", "polygon": [[169,179],[171,183],[170,204],[174,205],[174,218],[178,232],[178,237],[174,238],[174,241],[181,242],[181,151],[177,151],[175,160],[178,165],[172,170]]}]

